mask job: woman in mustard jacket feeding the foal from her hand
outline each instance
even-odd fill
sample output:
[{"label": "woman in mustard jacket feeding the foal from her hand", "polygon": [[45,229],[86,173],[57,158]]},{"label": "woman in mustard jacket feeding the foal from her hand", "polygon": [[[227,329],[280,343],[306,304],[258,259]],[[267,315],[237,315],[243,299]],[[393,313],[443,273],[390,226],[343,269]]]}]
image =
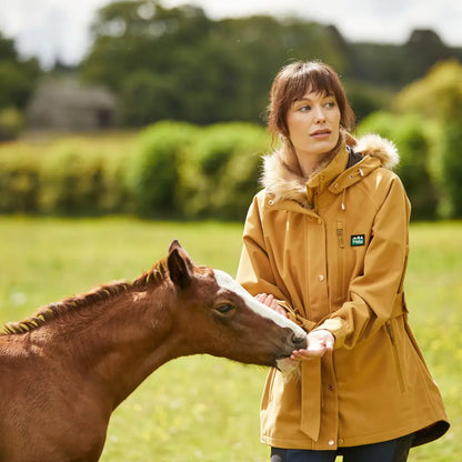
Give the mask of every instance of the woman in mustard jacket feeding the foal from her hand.
[{"label": "woman in mustard jacket feeding the foal from her hand", "polygon": [[300,374],[269,373],[261,439],[272,462],[405,461],[449,428],[408,324],[410,204],[393,144],[355,141],[335,72],[294,62],[274,79],[264,159],[239,282],[308,332]]}]

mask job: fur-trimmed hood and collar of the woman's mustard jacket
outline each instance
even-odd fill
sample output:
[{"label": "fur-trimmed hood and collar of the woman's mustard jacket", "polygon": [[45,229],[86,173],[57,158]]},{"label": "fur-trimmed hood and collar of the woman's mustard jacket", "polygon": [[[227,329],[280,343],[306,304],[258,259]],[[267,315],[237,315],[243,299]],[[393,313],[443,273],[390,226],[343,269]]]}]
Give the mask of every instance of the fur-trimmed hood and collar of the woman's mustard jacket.
[{"label": "fur-trimmed hood and collar of the woman's mustard jacket", "polygon": [[[322,192],[335,179],[349,181],[338,183],[337,192],[359,181],[379,167],[393,169],[400,161],[395,145],[378,134],[366,134],[355,140],[343,134],[343,142],[335,153],[307,179],[301,175],[293,151],[282,144],[273,153],[263,158],[261,184],[274,201],[294,200],[303,207],[311,207],[310,190]],[[353,162],[352,162],[353,160]],[[353,165],[349,167],[349,164]],[[354,171],[350,171],[353,169]],[[348,174],[344,174],[348,171]],[[354,174],[358,173],[358,174]],[[354,181],[351,181],[354,179]]]}]

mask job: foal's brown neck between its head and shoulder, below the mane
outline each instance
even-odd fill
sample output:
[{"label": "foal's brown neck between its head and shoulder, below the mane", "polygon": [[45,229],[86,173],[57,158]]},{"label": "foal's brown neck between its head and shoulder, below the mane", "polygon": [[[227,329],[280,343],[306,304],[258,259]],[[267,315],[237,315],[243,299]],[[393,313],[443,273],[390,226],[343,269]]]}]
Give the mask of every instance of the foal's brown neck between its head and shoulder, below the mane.
[{"label": "foal's brown neck between its head and shoulder, below the mane", "polygon": [[100,395],[112,411],[150,373],[178,355],[172,291],[168,280],[135,281],[128,290],[89,308],[88,313],[81,310],[78,319],[71,312],[63,315],[57,320],[61,329],[54,323],[49,329],[43,325],[40,331],[47,340],[47,354],[54,355],[61,366],[68,363],[76,380],[83,380],[86,389]]}]

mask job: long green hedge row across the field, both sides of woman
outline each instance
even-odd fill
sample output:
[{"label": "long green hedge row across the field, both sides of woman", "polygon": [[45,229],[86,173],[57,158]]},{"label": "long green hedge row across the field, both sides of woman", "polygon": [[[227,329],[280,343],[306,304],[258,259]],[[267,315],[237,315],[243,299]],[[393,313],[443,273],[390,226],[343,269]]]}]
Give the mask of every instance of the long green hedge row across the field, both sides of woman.
[{"label": "long green hedge row across the field, both sides of woman", "polygon": [[[358,133],[365,132],[396,143],[413,219],[458,210],[448,198],[462,191],[444,192],[444,178],[458,170],[454,155],[428,124],[379,112],[361,123]],[[3,143],[0,213],[243,220],[269,149],[265,129],[239,122],[163,121],[140,133]]]}]

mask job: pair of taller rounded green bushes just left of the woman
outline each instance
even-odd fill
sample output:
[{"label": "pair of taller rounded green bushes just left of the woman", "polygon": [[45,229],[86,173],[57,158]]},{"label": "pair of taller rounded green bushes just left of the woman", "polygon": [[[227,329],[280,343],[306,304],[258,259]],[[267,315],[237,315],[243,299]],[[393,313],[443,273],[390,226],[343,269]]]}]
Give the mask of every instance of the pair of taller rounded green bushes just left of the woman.
[{"label": "pair of taller rounded green bushes just left of the woman", "polygon": [[143,215],[243,219],[258,189],[264,129],[160,122],[141,135],[131,189]]}]

